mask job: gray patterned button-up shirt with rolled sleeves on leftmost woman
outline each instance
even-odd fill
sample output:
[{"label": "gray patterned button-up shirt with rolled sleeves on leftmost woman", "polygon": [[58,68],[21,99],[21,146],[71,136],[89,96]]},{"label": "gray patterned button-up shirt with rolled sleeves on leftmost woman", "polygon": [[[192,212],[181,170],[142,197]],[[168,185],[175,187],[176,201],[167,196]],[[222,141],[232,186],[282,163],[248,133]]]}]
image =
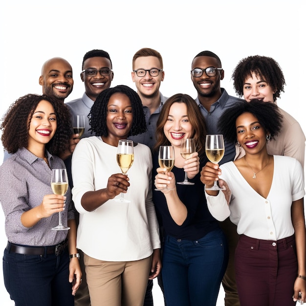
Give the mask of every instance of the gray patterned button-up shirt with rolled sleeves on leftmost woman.
[{"label": "gray patterned button-up shirt with rolled sleeves on leftmost woman", "polygon": [[[62,159],[46,152],[51,169],[65,168]],[[23,212],[40,205],[45,195],[53,194],[51,189],[51,169],[44,159],[35,156],[25,148],[12,154],[0,166],[0,201],[5,216],[5,233],[12,243],[48,246],[66,239],[68,231],[52,231],[59,223],[59,214],[41,219],[34,226],[22,225]],[[74,219],[71,192],[66,193],[66,207],[62,212],[62,222]]]}]

